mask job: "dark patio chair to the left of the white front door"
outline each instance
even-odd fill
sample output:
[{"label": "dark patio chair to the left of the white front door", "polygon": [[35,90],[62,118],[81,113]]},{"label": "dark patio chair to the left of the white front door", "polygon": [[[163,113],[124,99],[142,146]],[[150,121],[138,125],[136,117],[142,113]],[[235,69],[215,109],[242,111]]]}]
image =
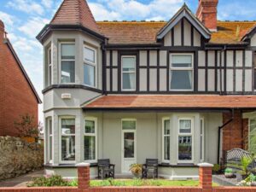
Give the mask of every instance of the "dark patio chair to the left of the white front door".
[{"label": "dark patio chair to the left of the white front door", "polygon": [[98,160],[98,178],[114,178],[114,165],[110,164],[109,159]]}]

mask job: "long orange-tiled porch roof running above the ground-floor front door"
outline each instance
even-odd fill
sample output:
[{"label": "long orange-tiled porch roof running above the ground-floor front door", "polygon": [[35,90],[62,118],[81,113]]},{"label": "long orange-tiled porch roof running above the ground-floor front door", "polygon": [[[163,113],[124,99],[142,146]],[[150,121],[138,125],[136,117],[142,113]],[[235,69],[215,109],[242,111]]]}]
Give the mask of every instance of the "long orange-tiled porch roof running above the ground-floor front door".
[{"label": "long orange-tiled porch roof running above the ground-floor front door", "polygon": [[256,108],[256,96],[218,95],[108,95],[83,106],[84,109],[133,108]]}]

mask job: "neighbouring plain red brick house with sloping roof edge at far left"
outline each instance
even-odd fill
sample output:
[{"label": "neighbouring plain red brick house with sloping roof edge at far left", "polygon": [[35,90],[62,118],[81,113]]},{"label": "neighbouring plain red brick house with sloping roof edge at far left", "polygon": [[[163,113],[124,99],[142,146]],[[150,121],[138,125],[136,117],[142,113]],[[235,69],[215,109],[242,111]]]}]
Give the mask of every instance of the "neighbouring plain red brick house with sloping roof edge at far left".
[{"label": "neighbouring plain red brick house with sloping roof edge at far left", "polygon": [[41,100],[9,42],[0,20],[0,136],[18,137],[15,121],[29,114],[38,122]]}]

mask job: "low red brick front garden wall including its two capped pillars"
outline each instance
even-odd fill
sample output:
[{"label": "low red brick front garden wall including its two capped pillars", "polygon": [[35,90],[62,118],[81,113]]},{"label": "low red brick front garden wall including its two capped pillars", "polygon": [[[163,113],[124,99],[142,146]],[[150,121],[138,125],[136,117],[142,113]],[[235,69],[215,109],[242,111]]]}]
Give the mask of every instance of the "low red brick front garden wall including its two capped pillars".
[{"label": "low red brick front garden wall including its two capped pillars", "polygon": [[212,165],[199,165],[199,187],[93,187],[90,165],[78,165],[78,187],[0,188],[0,192],[256,192],[256,187],[212,187]]}]

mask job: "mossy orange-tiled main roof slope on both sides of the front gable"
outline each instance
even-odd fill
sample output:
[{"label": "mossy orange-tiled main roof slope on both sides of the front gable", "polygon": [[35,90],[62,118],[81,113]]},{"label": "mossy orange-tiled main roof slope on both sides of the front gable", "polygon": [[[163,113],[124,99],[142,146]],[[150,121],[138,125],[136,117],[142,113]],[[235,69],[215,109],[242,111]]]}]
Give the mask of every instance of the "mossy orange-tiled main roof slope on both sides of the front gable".
[{"label": "mossy orange-tiled main roof slope on both sides of the front gable", "polygon": [[[97,21],[99,31],[108,44],[158,44],[156,35],[166,21]],[[209,44],[244,44],[241,38],[256,25],[256,21],[218,21],[218,31],[212,32]]]}]

